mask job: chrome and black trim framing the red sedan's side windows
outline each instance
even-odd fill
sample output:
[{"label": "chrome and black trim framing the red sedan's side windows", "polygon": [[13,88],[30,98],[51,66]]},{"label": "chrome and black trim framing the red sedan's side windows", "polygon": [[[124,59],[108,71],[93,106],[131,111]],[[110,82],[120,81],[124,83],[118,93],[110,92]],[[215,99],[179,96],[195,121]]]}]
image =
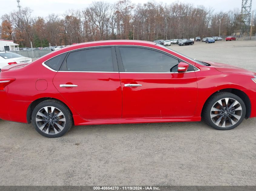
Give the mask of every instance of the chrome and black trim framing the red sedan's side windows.
[{"label": "chrome and black trim framing the red sedan's side windows", "polygon": [[[134,47],[144,47],[144,48],[151,48],[151,49],[155,49],[155,50],[158,50],[158,51],[161,51],[162,53],[166,53],[166,54],[168,54],[168,55],[171,55],[171,56],[173,56],[173,57],[176,57],[177,59],[180,59],[179,57],[177,57],[177,56],[174,56],[174,55],[172,55],[172,54],[170,54],[170,53],[167,53],[167,52],[165,52],[165,51],[163,51],[163,50],[159,50],[159,49],[157,49],[157,48],[152,48],[152,47],[148,47],[148,46],[140,46],[140,45],[98,45],[98,46],[90,46],[90,47],[85,47],[85,48],[78,48],[78,49],[74,49],[74,50],[69,50],[69,51],[66,51],[66,52],[64,52],[64,53],[68,53],[68,52],[72,52],[72,51],[75,51],[75,50],[81,50],[81,49],[87,49],[87,48],[94,48],[94,47],[105,47],[105,46],[111,46],[111,47],[116,47],[116,46],[134,46]],[[112,48],[112,50],[113,50],[113,48]],[[116,48],[115,48],[115,50],[116,50]],[[63,54],[63,53],[60,53],[60,54]],[[56,55],[56,56],[59,56],[60,54],[58,54],[58,55]],[[56,57],[56,56],[54,56],[54,57]],[[54,58],[54,57],[52,57],[52,58]],[[117,58],[118,57],[118,55],[117,55],[117,53],[116,53],[116,56],[114,57],[114,58],[116,58],[116,59],[118,59]],[[52,58],[49,58],[49,59],[52,59]],[[49,60],[48,59],[48,60]],[[65,58],[66,59],[66,58]],[[46,61],[48,61],[48,60],[45,60],[45,62]],[[192,64],[190,64],[189,62],[186,62],[186,61],[184,61],[183,59],[180,59],[182,62],[185,62],[185,63],[188,63],[189,65],[192,65]],[[42,65],[45,67],[45,68],[48,68],[49,70],[51,70],[51,71],[53,71],[53,72],[74,72],[74,71],[60,71],[60,70],[53,70],[52,68],[50,68],[50,67],[48,67],[47,65],[45,65],[45,62],[42,62]],[[118,63],[118,61],[117,61],[117,63]],[[63,64],[63,63],[62,63]],[[199,72],[199,71],[201,71],[200,70],[200,68],[198,68],[198,67],[196,67],[196,66],[194,66],[194,65],[192,65],[193,67],[195,67],[195,68],[197,68],[197,70],[195,70],[195,71],[190,71],[190,72]],[[62,67],[62,66],[61,66]],[[118,64],[118,68],[119,68],[119,64]],[[115,69],[115,68],[114,68]],[[86,71],[77,71],[77,72],[86,72]],[[128,72],[120,72],[120,68],[119,68],[119,72],[93,72],[93,73],[128,73]],[[130,72],[130,73],[151,73],[151,74],[174,74],[174,73],[178,73],[178,72]],[[183,74],[184,73],[189,73],[189,72],[183,72]]]}]

